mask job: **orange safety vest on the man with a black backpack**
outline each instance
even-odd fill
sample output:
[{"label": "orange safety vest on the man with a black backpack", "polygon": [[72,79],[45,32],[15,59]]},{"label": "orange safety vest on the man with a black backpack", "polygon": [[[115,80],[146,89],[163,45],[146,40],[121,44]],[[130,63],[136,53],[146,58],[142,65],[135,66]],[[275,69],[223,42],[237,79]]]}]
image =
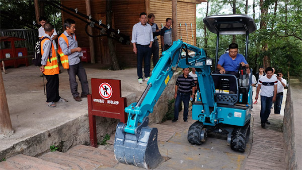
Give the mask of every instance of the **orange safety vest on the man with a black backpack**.
[{"label": "orange safety vest on the man with a black backpack", "polygon": [[[43,37],[42,37],[43,38]],[[41,41],[41,54],[43,55],[44,50],[43,50],[43,44],[47,39],[43,39],[43,41]],[[55,49],[54,46],[51,42],[51,58],[50,58],[49,62],[49,58],[47,58],[47,63],[46,66],[44,66],[44,72],[43,74],[45,75],[55,75],[55,74],[59,74],[59,65],[57,63],[57,57],[56,57],[56,53],[55,53]]]}]

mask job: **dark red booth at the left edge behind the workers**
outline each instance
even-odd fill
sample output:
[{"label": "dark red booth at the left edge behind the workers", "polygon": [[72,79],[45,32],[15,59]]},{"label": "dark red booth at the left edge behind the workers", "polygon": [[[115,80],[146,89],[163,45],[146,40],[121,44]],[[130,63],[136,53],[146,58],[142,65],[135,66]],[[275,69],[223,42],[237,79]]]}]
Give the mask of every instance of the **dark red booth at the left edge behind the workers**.
[{"label": "dark red booth at the left edge behind the workers", "polygon": [[[17,68],[19,65],[29,66],[28,58],[24,59],[14,59],[18,56],[27,56],[27,48],[25,47],[17,47],[15,45],[15,41],[24,41],[24,38],[18,37],[0,37],[1,45],[1,52],[0,52],[0,59],[11,59],[4,61],[5,67],[13,66]],[[1,63],[1,67],[2,63]]]}]

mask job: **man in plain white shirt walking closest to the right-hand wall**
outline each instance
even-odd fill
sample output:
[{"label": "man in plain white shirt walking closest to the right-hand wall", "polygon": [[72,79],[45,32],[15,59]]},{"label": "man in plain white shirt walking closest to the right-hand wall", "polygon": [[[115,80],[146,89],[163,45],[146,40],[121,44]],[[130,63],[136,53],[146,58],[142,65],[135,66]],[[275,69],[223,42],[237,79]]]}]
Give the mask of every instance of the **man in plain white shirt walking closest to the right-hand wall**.
[{"label": "man in plain white shirt walking closest to the right-hand wall", "polygon": [[278,72],[277,95],[276,95],[276,101],[274,102],[274,114],[280,114],[281,104],[283,99],[283,91],[284,91],[284,87],[286,87],[286,80],[283,79],[282,76],[283,74],[281,72]]}]

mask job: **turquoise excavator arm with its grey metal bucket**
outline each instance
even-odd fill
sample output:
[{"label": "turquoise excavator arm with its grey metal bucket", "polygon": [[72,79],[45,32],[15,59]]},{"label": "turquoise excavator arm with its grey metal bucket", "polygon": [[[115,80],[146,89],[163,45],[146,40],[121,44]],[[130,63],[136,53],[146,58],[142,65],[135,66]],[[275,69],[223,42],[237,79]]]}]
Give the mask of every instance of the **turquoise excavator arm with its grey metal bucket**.
[{"label": "turquoise excavator arm with its grey metal bucket", "polygon": [[[195,52],[193,57],[189,56],[188,49]],[[186,52],[186,58],[182,58],[182,50]],[[144,168],[155,168],[163,161],[157,145],[157,128],[148,127],[148,115],[153,112],[154,105],[162,95],[171,77],[178,67],[195,67],[200,71],[202,77],[212,81],[210,67],[203,49],[184,43],[181,40],[175,41],[173,45],[163,52],[163,56],[154,68],[152,76],[147,82],[147,87],[139,98],[125,108],[128,113],[127,124],[117,125],[114,153],[116,160],[121,163],[131,164]],[[203,74],[203,75],[202,75]],[[208,106],[214,105],[213,83],[210,82],[210,97],[207,97]],[[209,84],[209,83],[203,83]],[[205,90],[205,89],[203,89]]]}]

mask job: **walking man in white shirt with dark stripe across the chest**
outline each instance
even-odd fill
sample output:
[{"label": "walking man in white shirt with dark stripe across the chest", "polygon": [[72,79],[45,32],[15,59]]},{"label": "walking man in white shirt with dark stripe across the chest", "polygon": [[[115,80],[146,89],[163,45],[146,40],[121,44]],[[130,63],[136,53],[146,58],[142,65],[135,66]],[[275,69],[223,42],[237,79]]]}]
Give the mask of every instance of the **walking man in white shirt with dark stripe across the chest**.
[{"label": "walking man in white shirt with dark stripe across the chest", "polygon": [[261,88],[261,111],[260,111],[260,119],[261,119],[261,127],[265,128],[265,124],[270,124],[267,121],[270,115],[270,109],[272,103],[276,101],[277,95],[277,77],[273,76],[273,69],[268,67],[265,69],[266,75],[259,79],[257,94],[255,99],[258,99],[259,91]]}]

